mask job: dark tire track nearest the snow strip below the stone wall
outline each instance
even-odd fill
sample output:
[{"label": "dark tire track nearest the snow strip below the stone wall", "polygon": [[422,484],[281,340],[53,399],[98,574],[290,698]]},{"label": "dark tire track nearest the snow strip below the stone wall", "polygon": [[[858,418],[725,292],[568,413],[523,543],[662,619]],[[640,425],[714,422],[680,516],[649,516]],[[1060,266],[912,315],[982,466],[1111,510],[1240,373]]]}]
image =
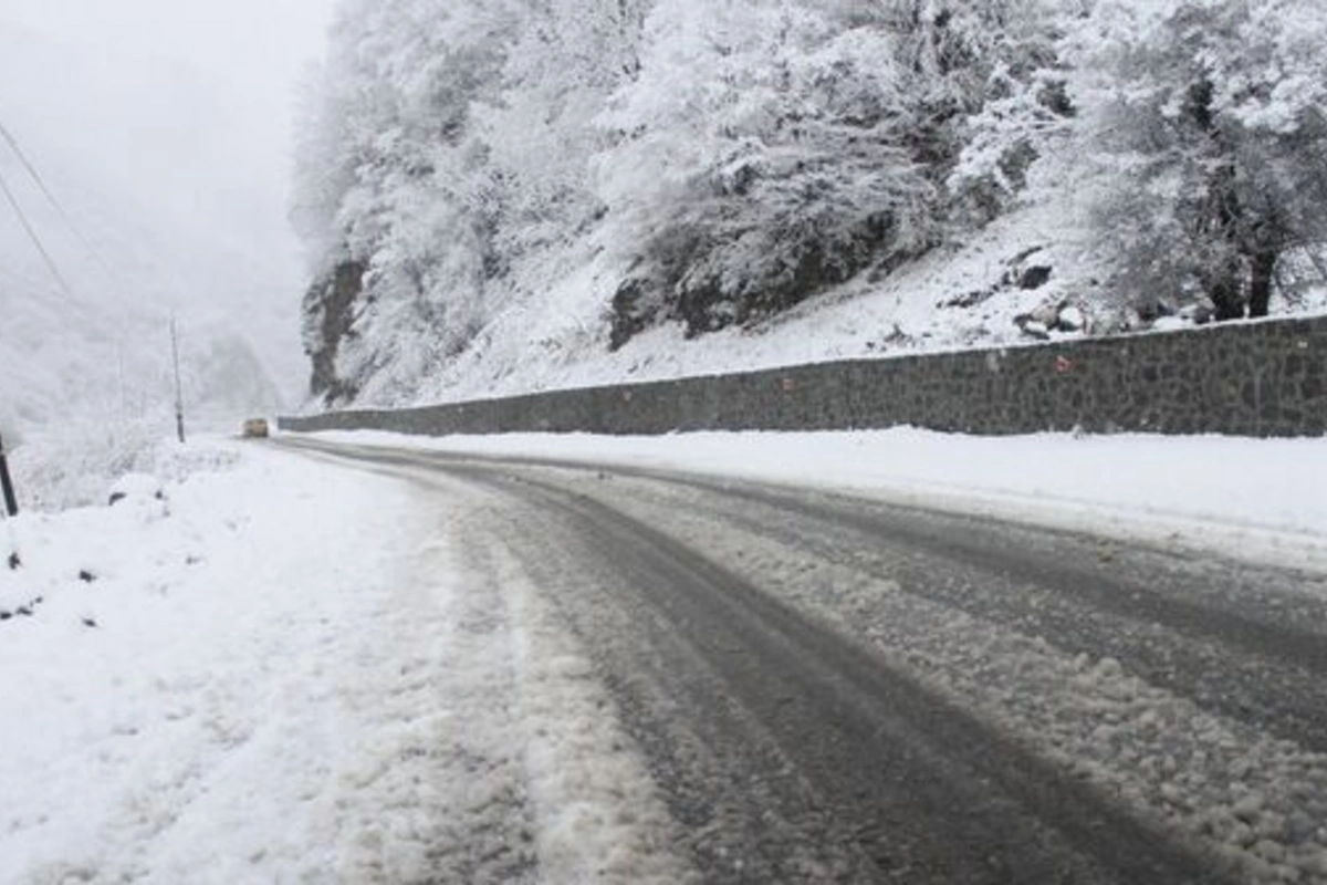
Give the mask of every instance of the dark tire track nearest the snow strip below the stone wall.
[{"label": "dark tire track nearest the snow strip below the stone wall", "polygon": [[[978,620],[1054,637],[1072,654],[1113,657],[1208,711],[1327,752],[1327,633],[1310,629],[1327,625],[1327,600],[1300,589],[1314,579],[1156,553],[1140,563],[1133,552],[1074,536],[1047,549],[1044,532],[938,513],[905,520],[864,502],[800,510],[778,494],[685,490],[679,496],[678,488],[644,483],[633,495],[653,495],[656,507],[671,511],[703,511]],[[1011,567],[1019,556],[1031,565]],[[1239,598],[1245,588],[1253,598]],[[1212,616],[1209,606],[1218,605]]]}]

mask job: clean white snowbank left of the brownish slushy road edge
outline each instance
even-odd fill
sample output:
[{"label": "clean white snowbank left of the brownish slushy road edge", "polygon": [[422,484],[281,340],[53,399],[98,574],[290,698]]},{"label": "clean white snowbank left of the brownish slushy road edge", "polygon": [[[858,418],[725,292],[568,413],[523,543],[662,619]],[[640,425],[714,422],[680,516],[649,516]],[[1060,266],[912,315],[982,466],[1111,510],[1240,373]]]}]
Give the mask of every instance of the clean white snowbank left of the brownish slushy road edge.
[{"label": "clean white snowbank left of the brownish slushy road edge", "polygon": [[[41,602],[0,622],[0,881],[293,878],[328,862],[309,845],[334,851],[325,625],[391,580],[403,496],[210,451],[223,470],[161,496],[139,479],[113,507],[11,524],[23,568],[0,596]],[[401,531],[357,544],[357,510]]]}]

